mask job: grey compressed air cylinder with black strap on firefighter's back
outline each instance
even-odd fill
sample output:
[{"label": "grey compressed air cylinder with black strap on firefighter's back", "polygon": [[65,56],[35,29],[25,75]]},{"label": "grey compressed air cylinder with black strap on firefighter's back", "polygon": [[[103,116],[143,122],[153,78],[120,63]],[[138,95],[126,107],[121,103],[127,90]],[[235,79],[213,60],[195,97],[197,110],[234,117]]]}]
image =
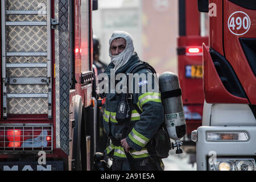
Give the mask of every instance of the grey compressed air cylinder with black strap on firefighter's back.
[{"label": "grey compressed air cylinder with black strap on firefighter's back", "polygon": [[184,137],[187,127],[177,75],[172,72],[164,72],[160,75],[159,90],[164,107],[164,123],[169,137],[175,142],[179,142]]}]

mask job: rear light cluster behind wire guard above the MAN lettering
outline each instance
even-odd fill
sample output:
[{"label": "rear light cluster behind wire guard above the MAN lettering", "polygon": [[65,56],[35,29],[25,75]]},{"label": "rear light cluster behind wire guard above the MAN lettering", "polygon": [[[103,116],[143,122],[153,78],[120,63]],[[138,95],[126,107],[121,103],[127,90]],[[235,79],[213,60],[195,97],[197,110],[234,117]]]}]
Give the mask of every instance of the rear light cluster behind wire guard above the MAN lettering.
[{"label": "rear light cluster behind wire guard above the MAN lettering", "polygon": [[52,126],[0,126],[0,151],[51,151]]}]

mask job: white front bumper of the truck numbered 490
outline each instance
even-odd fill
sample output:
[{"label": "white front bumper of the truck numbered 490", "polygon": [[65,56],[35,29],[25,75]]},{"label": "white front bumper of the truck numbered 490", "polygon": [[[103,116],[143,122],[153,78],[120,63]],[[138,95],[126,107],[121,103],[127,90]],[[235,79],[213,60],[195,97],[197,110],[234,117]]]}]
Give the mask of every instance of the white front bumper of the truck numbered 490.
[{"label": "white front bumper of the truck numbered 490", "polygon": [[[247,141],[207,141],[209,131],[245,132]],[[207,158],[216,156],[256,156],[256,126],[201,126],[197,129],[196,162],[198,171],[208,170]]]}]

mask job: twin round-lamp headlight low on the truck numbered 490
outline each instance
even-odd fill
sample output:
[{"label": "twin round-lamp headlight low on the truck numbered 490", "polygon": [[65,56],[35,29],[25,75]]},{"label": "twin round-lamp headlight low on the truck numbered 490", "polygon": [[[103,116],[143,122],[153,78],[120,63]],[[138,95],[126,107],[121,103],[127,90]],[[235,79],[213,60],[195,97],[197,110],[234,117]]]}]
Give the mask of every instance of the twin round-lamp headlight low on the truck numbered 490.
[{"label": "twin round-lamp headlight low on the truck numbered 490", "polygon": [[256,171],[254,159],[209,159],[210,171]]}]

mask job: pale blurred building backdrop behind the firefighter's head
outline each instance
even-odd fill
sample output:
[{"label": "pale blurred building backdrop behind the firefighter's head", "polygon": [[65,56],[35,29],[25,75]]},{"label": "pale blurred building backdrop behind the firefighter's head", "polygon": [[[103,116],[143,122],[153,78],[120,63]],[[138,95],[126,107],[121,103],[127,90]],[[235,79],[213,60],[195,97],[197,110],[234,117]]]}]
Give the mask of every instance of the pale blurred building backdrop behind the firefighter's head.
[{"label": "pale blurred building backdrop behind the firefighter's head", "polygon": [[93,11],[93,34],[101,43],[100,60],[110,63],[109,38],[129,32],[135,51],[158,73],[177,73],[178,0],[99,0]]}]

